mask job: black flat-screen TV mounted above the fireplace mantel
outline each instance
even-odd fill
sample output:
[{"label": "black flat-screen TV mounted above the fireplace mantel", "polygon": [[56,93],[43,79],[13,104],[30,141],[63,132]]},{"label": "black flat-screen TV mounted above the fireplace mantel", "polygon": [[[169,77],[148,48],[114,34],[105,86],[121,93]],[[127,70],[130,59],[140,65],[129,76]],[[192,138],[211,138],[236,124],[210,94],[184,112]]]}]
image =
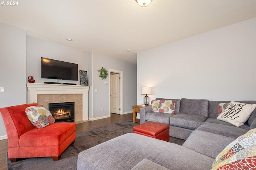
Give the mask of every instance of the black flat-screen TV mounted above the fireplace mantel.
[{"label": "black flat-screen TV mounted above the fireplace mantel", "polygon": [[78,64],[41,57],[41,78],[78,80]]}]

